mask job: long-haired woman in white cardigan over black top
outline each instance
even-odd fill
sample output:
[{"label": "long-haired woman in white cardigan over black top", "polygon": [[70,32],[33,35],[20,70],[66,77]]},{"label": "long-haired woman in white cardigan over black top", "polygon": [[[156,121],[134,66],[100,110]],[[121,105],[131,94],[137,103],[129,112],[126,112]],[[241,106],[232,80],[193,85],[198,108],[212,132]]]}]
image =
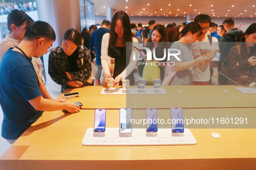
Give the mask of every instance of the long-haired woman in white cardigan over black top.
[{"label": "long-haired woman in white cardigan over black top", "polygon": [[[126,47],[126,42],[139,41],[132,34],[129,16],[123,11],[118,11],[112,18],[110,33],[103,35],[100,57],[101,66],[106,78],[112,78],[110,77],[108,56],[115,59],[113,79],[116,85],[124,79],[129,79],[130,85],[135,83],[133,69],[136,66],[137,60],[133,60],[131,45]],[[128,56],[126,56],[126,49],[128,50]]]}]

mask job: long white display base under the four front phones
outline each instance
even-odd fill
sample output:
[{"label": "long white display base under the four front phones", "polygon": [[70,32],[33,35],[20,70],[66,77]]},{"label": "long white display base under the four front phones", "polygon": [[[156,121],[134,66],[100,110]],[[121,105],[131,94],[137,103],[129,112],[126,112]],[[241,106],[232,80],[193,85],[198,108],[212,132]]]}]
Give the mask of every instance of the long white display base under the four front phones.
[{"label": "long white display base under the four front phones", "polygon": [[94,128],[88,128],[82,142],[85,146],[195,145],[196,143],[189,129],[184,129],[184,133],[172,133],[171,129],[158,129],[158,132],[133,129],[132,133],[120,133],[119,128],[106,128],[105,132],[94,132]]}]

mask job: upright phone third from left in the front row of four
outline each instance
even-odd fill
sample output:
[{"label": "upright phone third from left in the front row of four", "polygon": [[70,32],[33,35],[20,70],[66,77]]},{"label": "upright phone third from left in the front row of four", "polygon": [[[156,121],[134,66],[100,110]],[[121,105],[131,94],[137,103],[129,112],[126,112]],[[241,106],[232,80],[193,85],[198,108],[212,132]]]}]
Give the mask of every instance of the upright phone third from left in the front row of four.
[{"label": "upright phone third from left in the front row of four", "polygon": [[146,131],[147,132],[157,132],[157,112],[156,109],[146,110]]}]

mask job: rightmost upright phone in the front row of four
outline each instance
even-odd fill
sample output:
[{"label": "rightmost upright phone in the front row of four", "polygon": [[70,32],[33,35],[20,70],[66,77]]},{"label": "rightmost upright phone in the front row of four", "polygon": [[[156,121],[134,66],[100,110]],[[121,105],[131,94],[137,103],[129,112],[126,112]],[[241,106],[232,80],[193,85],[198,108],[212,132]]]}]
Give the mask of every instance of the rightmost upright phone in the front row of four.
[{"label": "rightmost upright phone in the front row of four", "polygon": [[171,108],[171,119],[172,119],[172,132],[173,133],[183,133],[183,114],[181,107],[172,107]]}]

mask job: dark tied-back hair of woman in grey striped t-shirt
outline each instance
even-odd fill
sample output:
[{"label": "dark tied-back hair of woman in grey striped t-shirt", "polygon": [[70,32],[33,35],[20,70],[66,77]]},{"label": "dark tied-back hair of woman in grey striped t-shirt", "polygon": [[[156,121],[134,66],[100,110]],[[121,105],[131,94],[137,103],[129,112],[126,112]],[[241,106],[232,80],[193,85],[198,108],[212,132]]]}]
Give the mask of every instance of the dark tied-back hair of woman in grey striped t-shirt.
[{"label": "dark tied-back hair of woman in grey striped t-shirt", "polygon": [[178,41],[179,38],[183,37],[184,35],[188,34],[188,32],[191,32],[192,34],[200,31],[200,34],[198,36],[202,35],[202,28],[201,26],[196,22],[189,22],[176,36],[175,41]]}]

